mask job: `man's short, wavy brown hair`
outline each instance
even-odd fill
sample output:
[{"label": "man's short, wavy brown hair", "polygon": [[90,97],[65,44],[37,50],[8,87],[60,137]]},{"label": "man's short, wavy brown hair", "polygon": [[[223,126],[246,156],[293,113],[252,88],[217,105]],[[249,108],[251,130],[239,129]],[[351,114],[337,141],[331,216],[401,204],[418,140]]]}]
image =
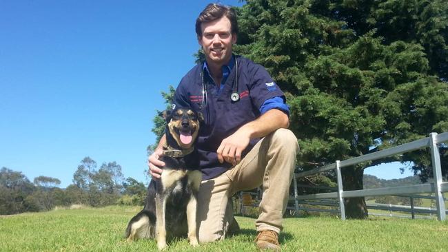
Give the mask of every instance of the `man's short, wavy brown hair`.
[{"label": "man's short, wavy brown hair", "polygon": [[215,21],[216,19],[221,19],[221,17],[224,16],[230,20],[232,34],[238,34],[238,22],[236,21],[235,10],[229,6],[223,6],[219,3],[209,3],[196,19],[196,34],[198,37],[202,36],[201,25],[203,23]]}]

